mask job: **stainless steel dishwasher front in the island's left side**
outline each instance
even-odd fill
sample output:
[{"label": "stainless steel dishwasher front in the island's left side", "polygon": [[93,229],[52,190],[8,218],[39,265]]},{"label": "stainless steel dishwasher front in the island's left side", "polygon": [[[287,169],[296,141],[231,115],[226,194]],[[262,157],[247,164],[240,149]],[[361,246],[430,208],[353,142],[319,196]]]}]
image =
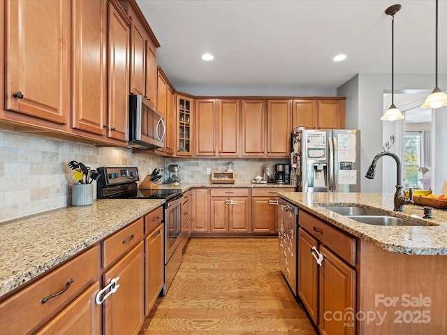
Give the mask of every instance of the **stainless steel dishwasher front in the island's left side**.
[{"label": "stainless steel dishwasher front in the island's left side", "polygon": [[279,199],[279,268],[293,295],[297,296],[298,207]]}]

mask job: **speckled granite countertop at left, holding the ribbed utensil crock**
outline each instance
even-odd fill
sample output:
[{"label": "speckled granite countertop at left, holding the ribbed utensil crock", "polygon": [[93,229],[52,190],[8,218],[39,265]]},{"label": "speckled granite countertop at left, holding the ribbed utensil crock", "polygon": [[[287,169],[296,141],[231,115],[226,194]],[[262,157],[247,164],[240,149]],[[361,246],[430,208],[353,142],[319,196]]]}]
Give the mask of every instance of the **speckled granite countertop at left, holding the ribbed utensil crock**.
[{"label": "speckled granite countertop at left, holding the ribbed utensil crock", "polygon": [[0,297],[156,209],[165,200],[95,200],[0,223]]}]

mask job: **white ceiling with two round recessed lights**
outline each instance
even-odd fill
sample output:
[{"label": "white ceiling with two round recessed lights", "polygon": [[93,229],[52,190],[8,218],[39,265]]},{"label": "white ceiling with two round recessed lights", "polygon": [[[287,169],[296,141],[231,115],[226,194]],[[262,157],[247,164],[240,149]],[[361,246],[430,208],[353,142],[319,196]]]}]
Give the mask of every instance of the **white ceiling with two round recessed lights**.
[{"label": "white ceiling with two round recessed lights", "polygon": [[[161,44],[158,64],[177,90],[191,94],[337,89],[357,73],[390,73],[391,17],[384,11],[395,3],[402,4],[395,73],[434,74],[434,0],[137,3]],[[203,61],[205,52],[214,61]],[[348,58],[332,61],[339,53]],[[447,73],[447,0],[439,0],[439,73]]]}]

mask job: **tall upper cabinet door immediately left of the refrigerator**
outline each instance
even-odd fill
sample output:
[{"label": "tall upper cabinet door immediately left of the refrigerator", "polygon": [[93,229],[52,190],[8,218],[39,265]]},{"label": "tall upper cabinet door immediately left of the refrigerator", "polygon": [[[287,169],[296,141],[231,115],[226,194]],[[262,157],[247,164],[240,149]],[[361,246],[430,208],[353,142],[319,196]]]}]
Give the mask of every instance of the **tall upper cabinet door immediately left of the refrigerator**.
[{"label": "tall upper cabinet door immediately left of the refrigerator", "polygon": [[267,155],[291,153],[292,110],[289,100],[269,100],[267,107]]}]

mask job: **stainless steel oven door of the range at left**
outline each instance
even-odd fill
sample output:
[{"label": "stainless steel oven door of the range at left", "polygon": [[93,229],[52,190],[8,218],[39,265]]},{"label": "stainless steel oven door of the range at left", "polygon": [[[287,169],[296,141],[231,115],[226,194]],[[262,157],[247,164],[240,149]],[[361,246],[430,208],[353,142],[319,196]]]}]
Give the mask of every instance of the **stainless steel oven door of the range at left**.
[{"label": "stainless steel oven door of the range at left", "polygon": [[165,209],[165,264],[168,264],[182,240],[182,198],[166,202]]}]

